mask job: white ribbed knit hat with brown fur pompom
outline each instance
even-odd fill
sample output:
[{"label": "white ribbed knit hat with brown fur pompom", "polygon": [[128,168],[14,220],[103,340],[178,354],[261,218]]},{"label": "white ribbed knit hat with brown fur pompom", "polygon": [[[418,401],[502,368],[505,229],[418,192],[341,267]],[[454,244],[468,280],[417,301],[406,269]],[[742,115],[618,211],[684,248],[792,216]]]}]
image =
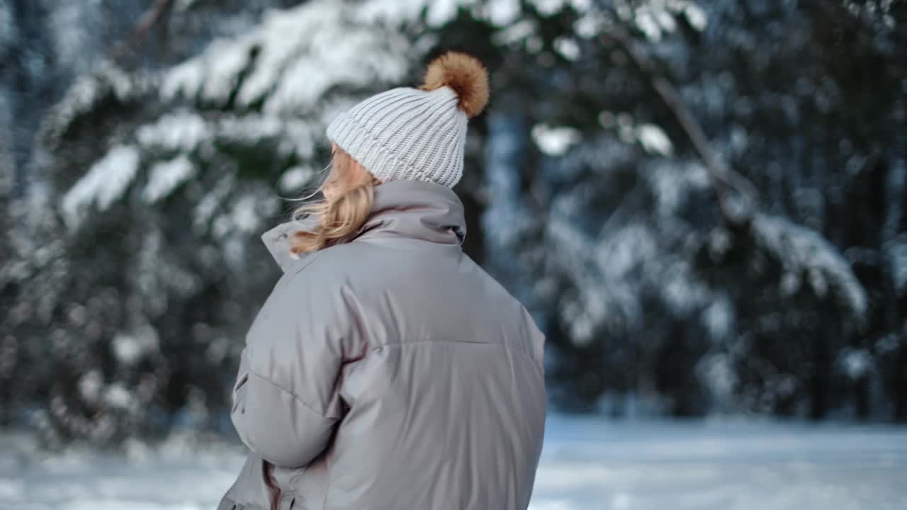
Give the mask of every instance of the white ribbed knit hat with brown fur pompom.
[{"label": "white ribbed knit hat with brown fur pompom", "polygon": [[327,126],[327,138],[381,181],[429,181],[453,188],[463,175],[469,118],[488,103],[488,72],[475,57],[435,58],[418,89],[369,97]]}]

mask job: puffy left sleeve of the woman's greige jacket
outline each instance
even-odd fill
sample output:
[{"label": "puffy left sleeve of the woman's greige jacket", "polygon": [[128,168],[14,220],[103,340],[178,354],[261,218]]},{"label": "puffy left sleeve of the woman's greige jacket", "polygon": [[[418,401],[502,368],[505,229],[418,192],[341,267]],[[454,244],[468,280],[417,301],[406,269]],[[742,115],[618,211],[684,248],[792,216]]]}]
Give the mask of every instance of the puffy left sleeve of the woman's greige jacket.
[{"label": "puffy left sleeve of the woman's greige jacket", "polygon": [[230,413],[252,452],[291,468],[324,451],[342,417],[336,384],[346,339],[342,299],[295,280],[278,283],[249,329]]}]

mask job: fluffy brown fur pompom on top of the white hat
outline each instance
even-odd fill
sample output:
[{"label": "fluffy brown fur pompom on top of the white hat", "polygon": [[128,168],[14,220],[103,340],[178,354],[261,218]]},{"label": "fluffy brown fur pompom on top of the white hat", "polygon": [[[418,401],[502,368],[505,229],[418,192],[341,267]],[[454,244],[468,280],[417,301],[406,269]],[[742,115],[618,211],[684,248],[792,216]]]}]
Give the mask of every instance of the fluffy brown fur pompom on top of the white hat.
[{"label": "fluffy brown fur pompom on top of the white hat", "polygon": [[467,117],[482,113],[488,103],[488,71],[473,55],[447,52],[428,64],[420,88],[434,91],[444,86],[452,88],[460,98],[460,109]]}]

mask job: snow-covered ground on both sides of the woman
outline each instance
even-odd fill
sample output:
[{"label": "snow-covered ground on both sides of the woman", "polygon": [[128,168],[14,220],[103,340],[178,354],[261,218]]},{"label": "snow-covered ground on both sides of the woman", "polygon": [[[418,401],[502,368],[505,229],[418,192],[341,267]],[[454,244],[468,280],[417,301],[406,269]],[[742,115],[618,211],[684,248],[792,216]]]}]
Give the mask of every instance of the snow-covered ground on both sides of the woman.
[{"label": "snow-covered ground on both sides of the woman", "polygon": [[[213,508],[236,446],[180,438],[123,456],[0,436],[0,509]],[[905,509],[907,428],[551,417],[532,510]]]}]

